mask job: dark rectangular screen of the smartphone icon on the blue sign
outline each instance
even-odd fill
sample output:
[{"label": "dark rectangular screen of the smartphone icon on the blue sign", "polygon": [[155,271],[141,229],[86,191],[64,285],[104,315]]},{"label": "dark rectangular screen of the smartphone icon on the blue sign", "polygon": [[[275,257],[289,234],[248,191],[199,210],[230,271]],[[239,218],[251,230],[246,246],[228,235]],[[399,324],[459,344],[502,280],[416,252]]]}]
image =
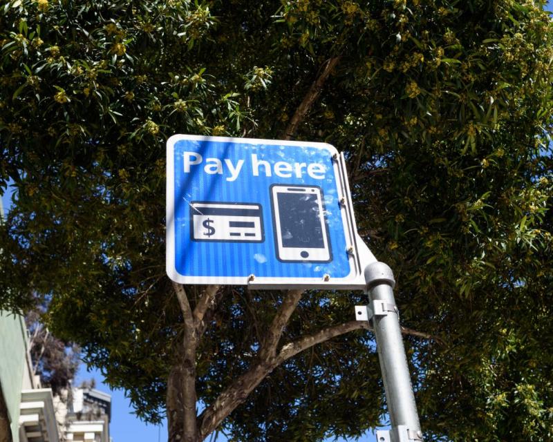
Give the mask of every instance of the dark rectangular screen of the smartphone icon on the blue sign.
[{"label": "dark rectangular screen of the smartphone icon on the blue sign", "polygon": [[283,247],[323,249],[322,213],[314,193],[278,193]]}]

